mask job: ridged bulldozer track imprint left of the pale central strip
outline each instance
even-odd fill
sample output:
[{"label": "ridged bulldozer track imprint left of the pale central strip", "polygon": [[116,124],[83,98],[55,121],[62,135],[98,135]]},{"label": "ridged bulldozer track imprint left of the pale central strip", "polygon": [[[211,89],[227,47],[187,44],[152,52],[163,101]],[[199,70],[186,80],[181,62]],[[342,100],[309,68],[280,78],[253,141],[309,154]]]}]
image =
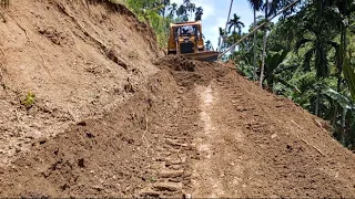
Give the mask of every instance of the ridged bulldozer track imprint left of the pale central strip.
[{"label": "ridged bulldozer track imprint left of the pale central strip", "polygon": [[[153,118],[153,125],[164,124],[164,129],[159,126],[153,127],[151,134],[160,137],[159,145],[155,145],[155,159],[152,168],[152,182],[140,190],[139,197],[174,197],[181,198],[189,195],[191,185],[192,166],[194,147],[192,136],[199,129],[191,116],[196,115],[194,108],[193,91],[187,94],[182,93],[176,96],[175,106],[168,106],[160,117]],[[174,108],[175,107],[175,108]],[[161,119],[164,119],[162,123]]]}]

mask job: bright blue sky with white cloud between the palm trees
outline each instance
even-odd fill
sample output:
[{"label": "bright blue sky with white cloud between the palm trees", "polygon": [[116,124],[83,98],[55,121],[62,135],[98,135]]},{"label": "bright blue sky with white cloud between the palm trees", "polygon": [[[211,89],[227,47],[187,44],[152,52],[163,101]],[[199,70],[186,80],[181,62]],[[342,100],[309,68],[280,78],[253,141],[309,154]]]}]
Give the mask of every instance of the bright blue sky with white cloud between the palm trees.
[{"label": "bright blue sky with white cloud between the palm trees", "polygon": [[[171,0],[171,2],[176,2],[179,6],[182,4],[182,1],[183,0]],[[213,46],[216,48],[219,28],[225,28],[231,0],[192,0],[191,2],[195,3],[196,7],[203,8],[203,34],[206,40],[211,40]],[[247,0],[234,0],[231,17],[233,13],[241,17],[241,21],[245,24],[243,31],[246,32],[254,20],[253,10]]]}]

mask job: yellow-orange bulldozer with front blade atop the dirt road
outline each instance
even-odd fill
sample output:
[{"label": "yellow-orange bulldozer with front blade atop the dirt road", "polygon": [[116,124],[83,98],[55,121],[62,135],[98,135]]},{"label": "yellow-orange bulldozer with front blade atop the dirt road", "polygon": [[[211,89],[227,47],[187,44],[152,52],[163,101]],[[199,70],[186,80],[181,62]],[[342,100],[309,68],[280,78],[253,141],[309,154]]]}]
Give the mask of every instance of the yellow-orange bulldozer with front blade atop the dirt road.
[{"label": "yellow-orange bulldozer with front blade atop the dirt road", "polygon": [[168,54],[207,62],[216,62],[219,57],[219,52],[207,51],[204,45],[201,21],[171,23]]}]

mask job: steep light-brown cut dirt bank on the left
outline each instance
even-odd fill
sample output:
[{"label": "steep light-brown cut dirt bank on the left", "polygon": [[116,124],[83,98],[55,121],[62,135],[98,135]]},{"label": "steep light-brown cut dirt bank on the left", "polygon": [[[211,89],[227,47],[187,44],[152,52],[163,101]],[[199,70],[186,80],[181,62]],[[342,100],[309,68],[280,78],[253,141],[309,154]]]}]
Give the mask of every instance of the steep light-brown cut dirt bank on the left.
[{"label": "steep light-brown cut dirt bank on the left", "polygon": [[[156,71],[160,54],[152,30],[125,7],[10,2],[0,8],[0,165],[38,137],[114,109]],[[26,108],[29,92],[36,104]]]}]

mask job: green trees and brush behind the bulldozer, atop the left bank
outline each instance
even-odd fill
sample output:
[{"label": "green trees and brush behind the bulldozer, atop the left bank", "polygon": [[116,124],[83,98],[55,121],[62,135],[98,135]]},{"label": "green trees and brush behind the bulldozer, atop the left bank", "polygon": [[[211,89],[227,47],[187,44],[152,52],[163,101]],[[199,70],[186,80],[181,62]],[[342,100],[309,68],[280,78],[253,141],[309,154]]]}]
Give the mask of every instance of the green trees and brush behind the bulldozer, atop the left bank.
[{"label": "green trees and brush behind the bulldozer, atop the left bank", "polygon": [[190,0],[183,4],[171,3],[170,0],[124,0],[141,21],[145,21],[153,28],[158,43],[166,48],[169,40],[169,27],[171,22],[201,20],[203,8],[195,7]]}]

